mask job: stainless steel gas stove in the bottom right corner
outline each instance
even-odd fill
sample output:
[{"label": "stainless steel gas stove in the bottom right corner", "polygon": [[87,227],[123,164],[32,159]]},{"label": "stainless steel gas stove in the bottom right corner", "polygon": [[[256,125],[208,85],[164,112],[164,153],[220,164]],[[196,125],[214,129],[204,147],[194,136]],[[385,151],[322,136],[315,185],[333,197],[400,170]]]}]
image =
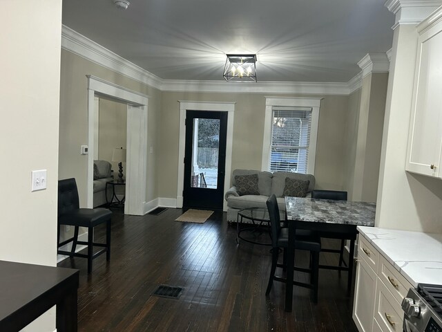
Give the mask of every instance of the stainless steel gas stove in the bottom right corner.
[{"label": "stainless steel gas stove in the bottom right corner", "polygon": [[404,332],[442,332],[442,285],[410,288],[402,309]]}]

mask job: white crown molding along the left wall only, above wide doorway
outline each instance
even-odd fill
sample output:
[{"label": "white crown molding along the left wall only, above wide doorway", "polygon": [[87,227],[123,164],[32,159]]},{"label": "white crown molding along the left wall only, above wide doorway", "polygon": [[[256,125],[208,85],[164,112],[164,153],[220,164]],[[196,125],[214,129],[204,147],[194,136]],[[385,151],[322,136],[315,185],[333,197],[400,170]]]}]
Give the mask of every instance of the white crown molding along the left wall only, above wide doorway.
[{"label": "white crown molding along the left wall only, above wide doorway", "polygon": [[120,57],[64,25],[61,26],[61,48],[75,53],[95,64],[111,69],[111,71],[130,77],[133,80],[148,84],[157,89],[161,87],[162,79],[160,77],[145,71],[132,62],[128,62],[123,57]]}]

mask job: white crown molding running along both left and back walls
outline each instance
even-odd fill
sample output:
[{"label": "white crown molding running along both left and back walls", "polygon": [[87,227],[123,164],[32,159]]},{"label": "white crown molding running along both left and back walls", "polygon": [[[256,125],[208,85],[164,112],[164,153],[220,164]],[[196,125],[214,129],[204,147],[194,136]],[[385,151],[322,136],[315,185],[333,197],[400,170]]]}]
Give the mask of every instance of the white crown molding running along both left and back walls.
[{"label": "white crown molding running along both left and back walls", "polygon": [[[442,0],[441,0],[442,1]],[[211,92],[211,93],[291,93],[314,95],[349,95],[362,86],[362,79],[369,72],[388,71],[383,53],[367,54],[358,64],[361,73],[349,82],[226,82],[199,80],[163,80],[136,66],[128,60],[80,35],[75,30],[62,26],[61,48],[68,50],[95,64],[111,69],[160,91]]]}]

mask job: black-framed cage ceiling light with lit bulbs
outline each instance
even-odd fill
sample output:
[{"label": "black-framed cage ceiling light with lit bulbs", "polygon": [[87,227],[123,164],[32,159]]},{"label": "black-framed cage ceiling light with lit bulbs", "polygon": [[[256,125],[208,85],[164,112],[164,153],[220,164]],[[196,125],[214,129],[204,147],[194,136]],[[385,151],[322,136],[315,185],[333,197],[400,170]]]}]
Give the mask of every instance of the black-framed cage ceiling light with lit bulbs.
[{"label": "black-framed cage ceiling light with lit bulbs", "polygon": [[226,81],[256,82],[256,54],[227,54],[224,73]]}]

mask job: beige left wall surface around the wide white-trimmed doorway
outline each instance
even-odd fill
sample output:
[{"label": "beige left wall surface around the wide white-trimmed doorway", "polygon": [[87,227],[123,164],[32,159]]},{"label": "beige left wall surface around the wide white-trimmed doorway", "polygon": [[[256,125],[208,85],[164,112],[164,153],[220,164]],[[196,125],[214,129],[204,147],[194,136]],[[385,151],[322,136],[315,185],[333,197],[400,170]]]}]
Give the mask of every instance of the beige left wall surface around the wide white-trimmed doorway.
[{"label": "beige left wall surface around the wide white-trimmed doorway", "polygon": [[88,142],[87,77],[94,75],[127,89],[144,93],[148,100],[148,148],[153,154],[147,159],[147,201],[157,198],[157,121],[160,113],[161,93],[157,89],[115,73],[61,50],[60,84],[60,135],[59,135],[59,178],[75,177],[80,196],[80,205],[86,206],[87,156],[79,154],[80,145]]}]

